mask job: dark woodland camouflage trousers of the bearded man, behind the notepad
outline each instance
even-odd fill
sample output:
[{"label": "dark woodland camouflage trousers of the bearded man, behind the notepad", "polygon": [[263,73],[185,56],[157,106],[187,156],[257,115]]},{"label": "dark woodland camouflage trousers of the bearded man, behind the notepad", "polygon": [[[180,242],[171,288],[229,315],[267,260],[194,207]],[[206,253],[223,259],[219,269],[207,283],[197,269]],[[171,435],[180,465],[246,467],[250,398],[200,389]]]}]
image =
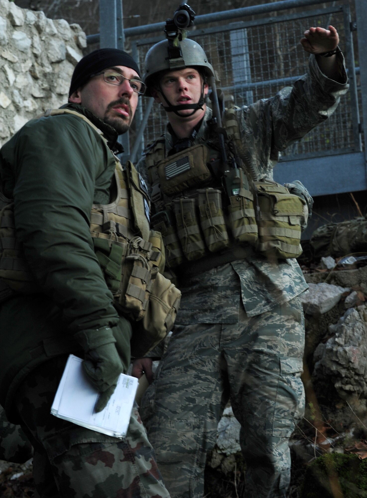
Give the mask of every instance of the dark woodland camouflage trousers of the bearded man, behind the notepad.
[{"label": "dark woodland camouflage trousers of the bearded man, behind the notepad", "polygon": [[43,363],[14,398],[20,425],[34,448],[36,497],[169,498],[136,408],[123,439],[51,415],[65,363],[65,357]]}]

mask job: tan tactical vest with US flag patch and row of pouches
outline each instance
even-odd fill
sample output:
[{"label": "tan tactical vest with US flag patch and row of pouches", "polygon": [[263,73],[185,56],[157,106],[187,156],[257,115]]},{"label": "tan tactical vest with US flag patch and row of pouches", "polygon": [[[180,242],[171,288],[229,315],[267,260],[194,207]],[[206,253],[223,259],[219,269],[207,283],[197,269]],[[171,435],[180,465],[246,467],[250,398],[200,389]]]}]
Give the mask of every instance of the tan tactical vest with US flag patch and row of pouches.
[{"label": "tan tactical vest with US flag patch and row of pouches", "polygon": [[250,246],[271,260],[302,253],[300,221],[305,200],[272,180],[256,181],[251,176],[237,109],[226,110],[223,124],[242,159],[230,192],[211,172],[210,164],[219,153],[211,148],[210,139],[169,157],[160,139],[146,152],[157,211],[152,226],[163,236],[168,267],[224,253],[234,245]]}]

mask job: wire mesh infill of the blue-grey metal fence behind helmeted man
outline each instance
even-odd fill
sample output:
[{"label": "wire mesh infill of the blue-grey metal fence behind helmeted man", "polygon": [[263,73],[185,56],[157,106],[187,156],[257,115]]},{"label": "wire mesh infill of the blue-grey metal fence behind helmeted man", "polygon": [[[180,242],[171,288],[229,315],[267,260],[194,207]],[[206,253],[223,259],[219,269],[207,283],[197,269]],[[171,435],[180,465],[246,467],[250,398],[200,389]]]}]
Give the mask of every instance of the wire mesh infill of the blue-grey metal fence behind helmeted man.
[{"label": "wire mesh infill of the blue-grey metal fence behind helmeted man", "polygon": [[[307,71],[308,54],[300,44],[303,32],[310,26],[333,24],[339,32],[340,45],[345,47],[346,32],[344,6],[288,14],[271,19],[236,22],[192,31],[205,50],[209,61],[220,74],[226,106],[250,105],[267,99],[284,86],[291,86]],[[137,41],[139,64],[142,67],[147,50],[161,38]],[[345,53],[346,58],[348,53]],[[352,61],[352,65],[354,61]],[[354,66],[353,66],[354,67]],[[143,99],[143,110],[146,99]],[[343,96],[337,111],[325,123],[311,130],[283,153],[283,160],[340,154],[358,149],[353,134],[351,94]],[[149,117],[144,132],[144,144],[164,131],[166,113],[157,105]]]}]

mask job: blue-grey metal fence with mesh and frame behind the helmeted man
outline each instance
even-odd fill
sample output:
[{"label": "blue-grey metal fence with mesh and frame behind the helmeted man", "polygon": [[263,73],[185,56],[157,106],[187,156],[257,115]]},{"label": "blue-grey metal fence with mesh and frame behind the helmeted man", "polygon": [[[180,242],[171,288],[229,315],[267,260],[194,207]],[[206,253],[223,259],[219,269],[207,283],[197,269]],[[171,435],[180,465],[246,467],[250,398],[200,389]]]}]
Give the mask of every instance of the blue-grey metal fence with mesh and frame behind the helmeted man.
[{"label": "blue-grey metal fence with mesh and frame behind the helmeted man", "polygon": [[[104,8],[105,1],[118,0],[101,0]],[[366,0],[355,1],[357,11],[364,15],[367,11]],[[320,8],[321,3],[323,8]],[[271,16],[264,17],[262,14],[266,12],[271,12]],[[252,17],[250,20],[249,14]],[[258,18],[253,18],[254,14]],[[208,26],[213,21],[216,25]],[[132,55],[140,67],[143,67],[147,50],[164,38],[163,24],[125,30],[124,36],[129,37]],[[329,120],[311,130],[283,153],[274,173],[278,181],[298,177],[303,183],[311,185],[313,195],[367,188],[366,156],[361,139],[361,133],[367,126],[360,119],[360,115],[367,114],[367,94],[362,98],[366,93],[367,81],[366,75],[360,76],[360,68],[355,67],[353,43],[357,24],[359,29],[362,27],[366,32],[363,19],[351,19],[347,1],[336,5],[336,1],[283,0],[198,16],[195,29],[189,33],[204,48],[212,65],[220,73],[220,86],[225,92],[227,106],[243,106],[271,97],[304,74],[308,54],[302,49],[299,40],[309,26],[326,27],[329,24],[337,28],[341,38],[350,91],[342,97],[337,111]],[[141,37],[156,30],[158,32],[154,37]],[[123,32],[120,38],[118,34],[117,30],[116,39],[120,39],[120,42],[116,43],[121,46]],[[109,44],[111,46],[111,41]],[[361,46],[363,44],[360,43]],[[360,49],[362,61],[366,55],[361,52],[363,50]],[[365,69],[361,67],[361,73],[364,72]],[[125,148],[127,145],[124,158],[137,160],[144,146],[164,131],[166,121],[166,114],[156,104],[152,105],[152,99],[142,98],[135,118],[135,143],[129,148],[124,137]],[[348,168],[353,170],[353,177]]]}]

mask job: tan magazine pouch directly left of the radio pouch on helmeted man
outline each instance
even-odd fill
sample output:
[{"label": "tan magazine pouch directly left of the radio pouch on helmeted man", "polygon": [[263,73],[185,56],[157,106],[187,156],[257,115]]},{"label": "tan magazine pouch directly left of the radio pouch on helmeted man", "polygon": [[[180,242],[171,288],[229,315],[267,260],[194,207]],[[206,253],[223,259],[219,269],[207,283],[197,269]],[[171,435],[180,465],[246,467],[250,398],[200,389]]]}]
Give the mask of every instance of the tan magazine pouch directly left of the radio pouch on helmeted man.
[{"label": "tan magazine pouch directly left of the radio pouch on helmeted man", "polygon": [[228,247],[230,240],[223,215],[222,192],[213,188],[199,189],[197,192],[200,225],[207,248],[216,252]]}]

